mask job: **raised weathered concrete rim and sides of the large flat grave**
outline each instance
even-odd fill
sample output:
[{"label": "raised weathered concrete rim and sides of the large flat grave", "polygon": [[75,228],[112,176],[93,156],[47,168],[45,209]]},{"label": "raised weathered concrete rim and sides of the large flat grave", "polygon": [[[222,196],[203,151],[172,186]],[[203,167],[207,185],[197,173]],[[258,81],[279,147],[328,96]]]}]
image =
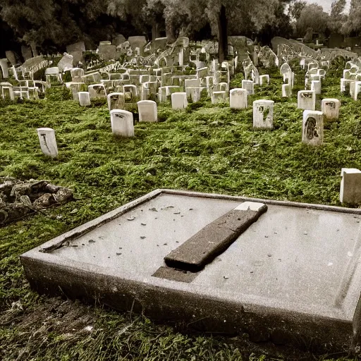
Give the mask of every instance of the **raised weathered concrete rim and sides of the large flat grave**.
[{"label": "raised weathered concrete rim and sides of the large flat grave", "polygon": [[69,299],[78,298],[92,303],[95,300],[116,310],[145,314],[159,322],[183,322],[188,328],[198,331],[225,334],[246,332],[255,341],[290,343],[301,348],[310,342],[317,346],[317,350],[326,352],[360,344],[360,300],[353,319],[346,314],[338,318],[325,317],[302,310],[284,310],[277,305],[264,305],[262,300],[259,303],[247,302],[242,295],[237,300],[231,300],[216,292],[212,296],[190,292],[186,283],[157,277],[149,282],[134,274],[132,277],[127,274],[114,275],[111,268],[51,255],[51,251],[63,243],[78,238],[161,194],[261,202],[361,215],[361,209],[322,204],[157,189],[21,255],[20,261],[31,288],[48,295],[65,295]]}]

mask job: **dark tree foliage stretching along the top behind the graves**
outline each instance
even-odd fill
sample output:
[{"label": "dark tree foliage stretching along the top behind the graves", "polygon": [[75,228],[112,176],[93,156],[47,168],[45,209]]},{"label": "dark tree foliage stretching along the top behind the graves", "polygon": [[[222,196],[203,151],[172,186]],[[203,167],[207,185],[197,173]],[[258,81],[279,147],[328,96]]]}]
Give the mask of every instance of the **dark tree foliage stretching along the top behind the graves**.
[{"label": "dark tree foliage stretching along the top behind the graves", "polygon": [[[84,40],[92,47],[117,34],[207,34],[219,39],[221,59],[227,56],[227,36],[245,35],[269,44],[271,37],[305,37],[329,31],[355,36],[361,32],[361,0],[335,0],[331,14],[303,0],[0,0],[2,35],[33,50],[65,50]],[[286,6],[288,11],[286,11]],[[13,42],[2,39],[1,47]]]}]

